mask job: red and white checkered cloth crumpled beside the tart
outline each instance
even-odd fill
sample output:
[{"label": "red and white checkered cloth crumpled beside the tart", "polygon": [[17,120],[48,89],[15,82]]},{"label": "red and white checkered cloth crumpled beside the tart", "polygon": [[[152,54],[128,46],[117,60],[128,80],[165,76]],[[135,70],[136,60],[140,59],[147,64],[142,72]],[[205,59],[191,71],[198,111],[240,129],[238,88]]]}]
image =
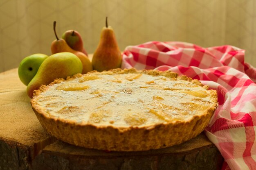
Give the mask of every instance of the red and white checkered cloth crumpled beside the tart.
[{"label": "red and white checkered cloth crumpled beside the tart", "polygon": [[256,69],[234,46],[202,48],[150,41],[128,46],[122,68],[171,70],[218,92],[219,106],[205,133],[225,159],[222,169],[256,169]]}]

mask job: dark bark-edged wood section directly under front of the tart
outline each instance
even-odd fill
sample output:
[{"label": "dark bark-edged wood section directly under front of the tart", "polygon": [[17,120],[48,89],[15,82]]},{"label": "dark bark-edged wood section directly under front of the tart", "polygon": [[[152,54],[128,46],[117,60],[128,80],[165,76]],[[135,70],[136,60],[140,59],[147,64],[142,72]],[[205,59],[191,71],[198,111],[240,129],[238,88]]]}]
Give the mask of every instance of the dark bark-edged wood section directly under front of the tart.
[{"label": "dark bark-edged wood section directly under front of the tart", "polygon": [[223,158],[204,134],[180,145],[140,152],[105,152],[61,141],[33,161],[36,170],[216,170]]}]

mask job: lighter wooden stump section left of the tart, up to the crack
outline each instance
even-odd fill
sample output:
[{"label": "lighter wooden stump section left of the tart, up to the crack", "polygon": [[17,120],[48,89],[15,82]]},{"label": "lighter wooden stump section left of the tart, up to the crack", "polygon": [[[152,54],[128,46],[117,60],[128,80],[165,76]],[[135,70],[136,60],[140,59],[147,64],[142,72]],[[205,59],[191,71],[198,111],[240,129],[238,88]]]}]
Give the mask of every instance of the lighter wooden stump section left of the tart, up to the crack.
[{"label": "lighter wooden stump section left of the tart, up to the crack", "polygon": [[0,170],[29,169],[39,151],[54,142],[38,122],[18,69],[0,73]]}]

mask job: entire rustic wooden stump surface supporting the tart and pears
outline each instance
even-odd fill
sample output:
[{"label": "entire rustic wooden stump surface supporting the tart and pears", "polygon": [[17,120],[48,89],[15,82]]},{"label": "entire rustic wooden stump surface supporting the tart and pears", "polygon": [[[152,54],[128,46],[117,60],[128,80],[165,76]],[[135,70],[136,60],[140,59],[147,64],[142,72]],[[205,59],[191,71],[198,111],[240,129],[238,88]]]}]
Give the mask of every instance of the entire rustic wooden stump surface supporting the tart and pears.
[{"label": "entire rustic wooden stump surface supporting the tart and pears", "polygon": [[223,158],[204,134],[145,152],[105,152],[56,140],[40,125],[18,69],[0,73],[0,170],[220,169]]}]

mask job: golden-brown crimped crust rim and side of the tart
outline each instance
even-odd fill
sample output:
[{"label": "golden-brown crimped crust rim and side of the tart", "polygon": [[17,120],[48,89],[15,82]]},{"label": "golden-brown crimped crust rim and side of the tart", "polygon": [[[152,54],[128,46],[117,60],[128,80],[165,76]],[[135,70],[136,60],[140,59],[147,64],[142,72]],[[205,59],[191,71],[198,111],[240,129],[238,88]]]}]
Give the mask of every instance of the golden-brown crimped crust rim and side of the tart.
[{"label": "golden-brown crimped crust rim and side of the tart", "polygon": [[[92,71],[90,73],[97,73]],[[113,69],[109,71],[98,72],[99,74],[127,74],[127,73],[143,73],[155,76],[166,76],[168,78],[176,78],[190,81],[194,84],[208,89],[209,86],[202,85],[198,80],[193,80],[187,76],[178,76],[177,73],[171,71],[157,70],[136,70],[131,69]],[[72,79],[81,77],[82,74],[67,77]],[[56,79],[49,85],[42,85],[38,90],[34,91],[33,96],[39,95],[45,91],[48,86],[60,83],[65,79]],[[36,100],[31,100],[32,109],[34,110],[39,122],[45,130],[56,138],[86,148],[94,148],[99,150],[115,150],[115,151],[139,151],[150,150],[173,146],[185,142],[198,134],[200,134],[209,123],[211,116],[218,106],[216,90],[209,90],[211,93],[212,105],[202,114],[195,115],[191,119],[175,120],[164,122],[161,124],[145,125],[145,126],[113,126],[113,125],[97,125],[92,123],[76,123],[68,120],[61,120],[56,117],[50,117],[43,108],[38,106]]]}]

